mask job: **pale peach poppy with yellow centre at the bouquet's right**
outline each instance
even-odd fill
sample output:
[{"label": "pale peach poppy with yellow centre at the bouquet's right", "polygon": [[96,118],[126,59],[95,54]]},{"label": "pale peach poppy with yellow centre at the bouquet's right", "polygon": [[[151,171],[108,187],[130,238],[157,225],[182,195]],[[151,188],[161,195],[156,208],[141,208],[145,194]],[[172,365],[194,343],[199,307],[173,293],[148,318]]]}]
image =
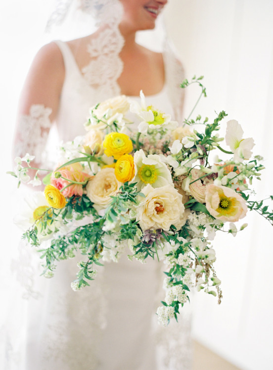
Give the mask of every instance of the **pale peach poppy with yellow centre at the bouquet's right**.
[{"label": "pale peach poppy with yellow centre at the bouquet's right", "polygon": [[246,201],[226,186],[208,185],[205,201],[209,213],[222,221],[236,222],[245,217],[247,212]]}]

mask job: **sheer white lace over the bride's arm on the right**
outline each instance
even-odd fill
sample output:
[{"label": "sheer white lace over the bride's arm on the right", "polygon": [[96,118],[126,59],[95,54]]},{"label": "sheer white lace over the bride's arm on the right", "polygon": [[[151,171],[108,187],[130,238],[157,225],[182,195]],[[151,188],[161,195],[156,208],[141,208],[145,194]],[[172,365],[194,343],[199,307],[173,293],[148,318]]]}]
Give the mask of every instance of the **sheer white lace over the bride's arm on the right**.
[{"label": "sheer white lace over the bride's arm on the right", "polygon": [[167,80],[168,95],[171,99],[175,119],[182,124],[183,121],[183,104],[184,90],[180,84],[184,80],[184,68],[181,61],[175,55],[174,49],[169,42],[164,45],[164,63]]}]

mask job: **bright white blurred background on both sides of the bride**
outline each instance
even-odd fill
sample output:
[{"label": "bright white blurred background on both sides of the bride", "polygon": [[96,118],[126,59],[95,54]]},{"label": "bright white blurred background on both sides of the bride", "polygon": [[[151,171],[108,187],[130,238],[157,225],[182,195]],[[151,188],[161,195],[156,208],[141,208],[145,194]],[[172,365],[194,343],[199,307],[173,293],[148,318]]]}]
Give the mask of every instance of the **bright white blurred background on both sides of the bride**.
[{"label": "bright white blurred background on both sides of the bride", "polygon": [[[20,237],[20,231],[11,226],[16,181],[5,172],[12,168],[10,148],[23,81],[38,49],[52,39],[44,30],[53,4],[53,0],[0,4],[3,301],[12,294],[7,261]],[[254,184],[255,198],[269,196],[273,193],[273,1],[169,0],[165,24],[186,77],[205,76],[208,97],[193,116],[214,119],[215,112],[224,110],[228,119],[238,120],[244,137],[254,138],[254,153],[264,157],[266,166],[262,182]],[[69,38],[67,34],[59,37]],[[188,88],[185,116],[198,96],[198,89]],[[272,226],[254,211],[244,222],[248,227],[235,238],[221,234],[213,242],[224,297],[218,305],[213,296],[195,295],[193,337],[239,369],[272,370]],[[2,318],[7,309],[0,306]]]}]

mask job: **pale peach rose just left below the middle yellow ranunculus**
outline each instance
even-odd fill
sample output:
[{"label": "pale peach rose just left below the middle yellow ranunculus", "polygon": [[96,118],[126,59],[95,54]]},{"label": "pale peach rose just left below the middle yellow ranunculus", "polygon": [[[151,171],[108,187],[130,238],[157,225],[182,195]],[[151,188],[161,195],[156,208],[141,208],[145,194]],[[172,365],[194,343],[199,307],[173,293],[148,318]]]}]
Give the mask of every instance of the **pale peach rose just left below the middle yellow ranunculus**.
[{"label": "pale peach rose just left below the middle yellow ranunculus", "polygon": [[114,168],[102,168],[87,184],[87,196],[96,205],[103,208],[111,202],[122,183],[115,176]]}]

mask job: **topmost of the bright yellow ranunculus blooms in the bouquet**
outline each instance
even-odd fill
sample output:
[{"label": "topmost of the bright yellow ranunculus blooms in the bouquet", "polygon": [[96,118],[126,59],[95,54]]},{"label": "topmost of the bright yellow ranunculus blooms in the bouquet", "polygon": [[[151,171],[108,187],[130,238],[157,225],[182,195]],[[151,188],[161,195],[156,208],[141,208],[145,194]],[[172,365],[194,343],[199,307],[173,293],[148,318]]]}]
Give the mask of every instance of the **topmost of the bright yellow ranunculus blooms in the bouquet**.
[{"label": "topmost of the bright yellow ranunculus blooms in the bouquet", "polygon": [[111,132],[105,136],[103,147],[108,157],[113,155],[115,159],[119,159],[123,154],[128,154],[133,150],[133,143],[128,135]]}]

